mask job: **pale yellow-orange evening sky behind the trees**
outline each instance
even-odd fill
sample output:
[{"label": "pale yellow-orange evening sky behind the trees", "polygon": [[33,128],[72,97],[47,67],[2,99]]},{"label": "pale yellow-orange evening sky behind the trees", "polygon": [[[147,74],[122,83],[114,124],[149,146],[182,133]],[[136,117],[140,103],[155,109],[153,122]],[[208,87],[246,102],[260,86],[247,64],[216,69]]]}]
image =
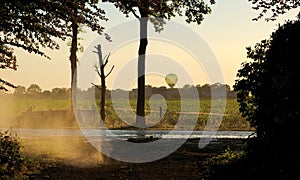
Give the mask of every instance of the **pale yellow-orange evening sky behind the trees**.
[{"label": "pale yellow-orange evening sky behind the trees", "polygon": [[[163,33],[155,34],[152,33],[153,27],[149,24],[148,29],[151,31],[149,34],[152,38],[149,39],[146,56],[146,84],[167,86],[164,81],[165,75],[175,73],[179,79],[177,87],[185,84],[212,84],[219,80],[232,87],[241,63],[249,61],[246,58],[246,47],[254,46],[261,40],[269,38],[279,24],[283,24],[288,19],[296,19],[299,12],[299,8],[291,10],[271,22],[263,19],[252,21],[260,12],[253,10],[248,0],[216,2],[211,6],[212,13],[205,15],[200,25],[187,24],[182,17],[173,18],[172,22],[179,23],[175,24],[179,30],[176,29],[177,34],[173,36],[168,34],[174,33],[171,25],[167,24]],[[135,23],[133,16],[126,18],[111,4],[101,6],[109,18],[107,22],[103,22],[103,26],[107,32],[111,32],[112,35],[114,32],[116,35],[112,36],[111,44],[105,41],[103,36],[99,37],[89,30],[85,30],[85,33],[80,35],[85,50],[79,54],[79,86],[86,88],[91,81],[97,83],[91,63],[97,63],[98,60],[92,51],[96,44],[101,43],[103,56],[111,53],[107,71],[112,65],[115,66],[111,75],[107,77],[108,88],[135,88],[138,24]],[[132,29],[126,28],[129,25]],[[119,33],[115,32],[116,29]],[[192,35],[182,33],[190,31]],[[166,37],[171,38],[166,39]],[[182,37],[185,38],[183,41],[181,41]],[[114,41],[114,39],[118,40]],[[43,90],[70,87],[69,47],[66,45],[67,42],[60,40],[58,42],[61,46],[60,50],[45,49],[51,60],[14,48],[18,59],[18,70],[1,70],[0,76],[15,85],[29,87],[30,84],[38,84]],[[206,61],[215,64],[207,65]],[[213,69],[212,65],[218,68]],[[93,75],[88,77],[89,73]],[[85,83],[81,83],[81,79],[84,79]]]}]

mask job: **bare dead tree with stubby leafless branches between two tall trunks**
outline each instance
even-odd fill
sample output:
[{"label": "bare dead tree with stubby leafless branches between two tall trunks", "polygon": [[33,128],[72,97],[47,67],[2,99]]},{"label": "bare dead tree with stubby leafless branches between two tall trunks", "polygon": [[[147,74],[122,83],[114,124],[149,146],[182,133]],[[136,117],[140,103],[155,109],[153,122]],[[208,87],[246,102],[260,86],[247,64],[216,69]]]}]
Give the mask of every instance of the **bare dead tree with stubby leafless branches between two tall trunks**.
[{"label": "bare dead tree with stubby leafless branches between two tall trunks", "polygon": [[102,121],[105,121],[105,116],[106,116],[106,114],[105,114],[106,78],[110,75],[110,73],[112,72],[112,70],[114,69],[115,66],[112,66],[110,71],[107,74],[105,74],[105,67],[108,63],[108,59],[109,59],[110,55],[107,55],[103,59],[101,45],[99,44],[95,48],[97,51],[94,51],[94,52],[97,53],[98,57],[99,57],[99,67],[97,67],[95,65],[95,69],[101,80],[101,88],[99,88],[95,84],[94,84],[94,86],[101,90],[100,116],[101,116]]}]

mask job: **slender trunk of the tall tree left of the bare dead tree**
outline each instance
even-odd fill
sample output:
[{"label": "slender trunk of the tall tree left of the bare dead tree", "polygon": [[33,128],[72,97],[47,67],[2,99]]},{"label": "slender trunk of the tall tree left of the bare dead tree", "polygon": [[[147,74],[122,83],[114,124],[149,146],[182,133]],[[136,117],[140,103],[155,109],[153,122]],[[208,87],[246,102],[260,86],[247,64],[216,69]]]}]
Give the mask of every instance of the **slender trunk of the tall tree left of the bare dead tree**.
[{"label": "slender trunk of the tall tree left of the bare dead tree", "polygon": [[78,35],[78,25],[76,21],[72,22],[72,44],[71,44],[71,102],[72,107],[77,106],[76,94],[77,94],[77,35]]}]

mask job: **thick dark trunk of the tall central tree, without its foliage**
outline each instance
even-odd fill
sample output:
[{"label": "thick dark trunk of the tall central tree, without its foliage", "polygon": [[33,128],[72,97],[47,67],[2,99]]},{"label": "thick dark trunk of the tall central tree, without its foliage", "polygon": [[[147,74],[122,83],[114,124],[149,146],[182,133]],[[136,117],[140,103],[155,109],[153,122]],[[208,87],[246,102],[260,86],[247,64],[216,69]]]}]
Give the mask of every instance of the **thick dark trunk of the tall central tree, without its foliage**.
[{"label": "thick dark trunk of the tall central tree, without its foliage", "polygon": [[136,126],[146,127],[145,119],[145,60],[146,49],[148,45],[148,16],[141,12],[140,18],[140,45],[138,52],[138,89],[137,89],[137,105],[136,105]]}]

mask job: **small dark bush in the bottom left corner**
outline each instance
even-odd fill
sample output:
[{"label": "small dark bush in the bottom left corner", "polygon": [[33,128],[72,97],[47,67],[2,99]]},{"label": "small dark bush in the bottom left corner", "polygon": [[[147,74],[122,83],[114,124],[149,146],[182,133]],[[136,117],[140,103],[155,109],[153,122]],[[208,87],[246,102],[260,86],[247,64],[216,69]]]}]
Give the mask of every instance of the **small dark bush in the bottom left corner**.
[{"label": "small dark bush in the bottom left corner", "polygon": [[23,164],[20,148],[19,139],[12,129],[0,132],[0,179],[14,177],[20,172]]}]

